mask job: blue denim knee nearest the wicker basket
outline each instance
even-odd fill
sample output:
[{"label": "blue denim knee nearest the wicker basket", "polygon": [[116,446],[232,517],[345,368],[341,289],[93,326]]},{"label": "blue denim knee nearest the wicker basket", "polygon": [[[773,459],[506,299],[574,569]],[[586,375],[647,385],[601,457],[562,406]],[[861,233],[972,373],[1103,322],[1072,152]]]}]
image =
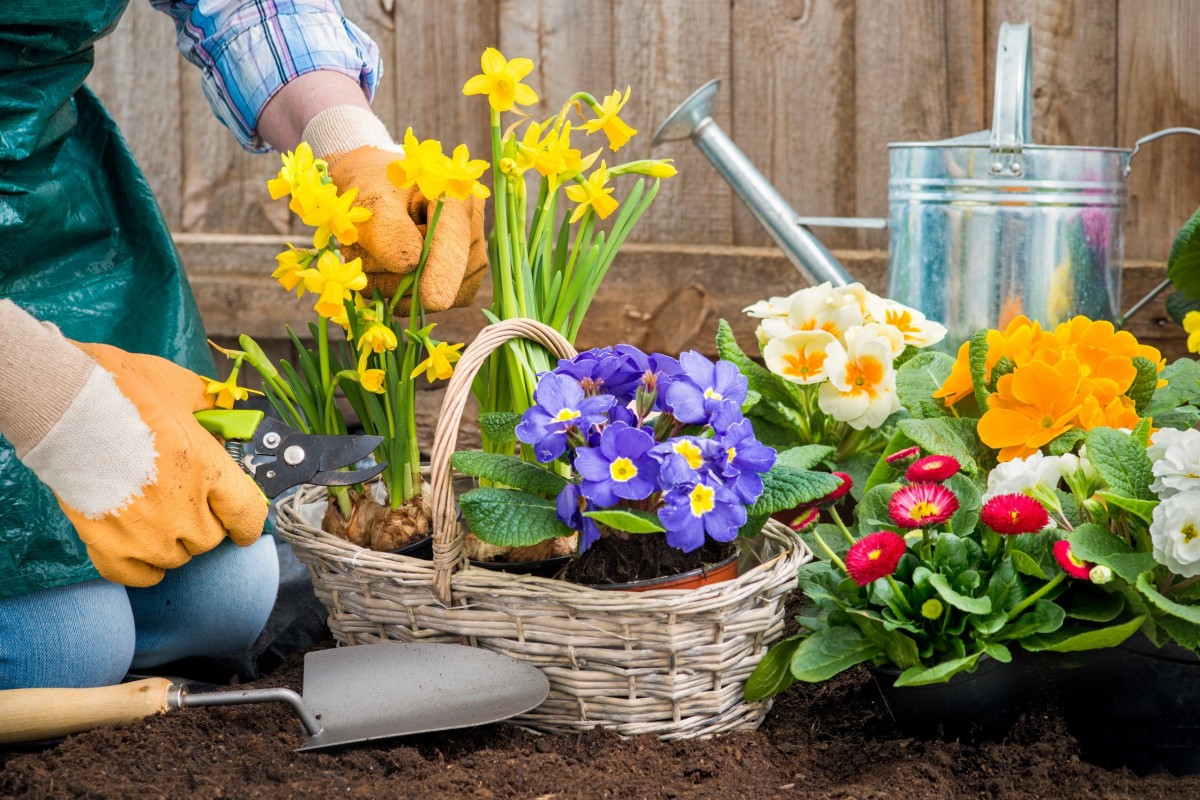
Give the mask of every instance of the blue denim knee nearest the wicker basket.
[{"label": "blue denim knee nearest the wicker basket", "polygon": [[133,666],[239,652],[266,624],[280,584],[275,539],[248,547],[226,541],[170,570],[162,583],[130,589],[137,624]]}]

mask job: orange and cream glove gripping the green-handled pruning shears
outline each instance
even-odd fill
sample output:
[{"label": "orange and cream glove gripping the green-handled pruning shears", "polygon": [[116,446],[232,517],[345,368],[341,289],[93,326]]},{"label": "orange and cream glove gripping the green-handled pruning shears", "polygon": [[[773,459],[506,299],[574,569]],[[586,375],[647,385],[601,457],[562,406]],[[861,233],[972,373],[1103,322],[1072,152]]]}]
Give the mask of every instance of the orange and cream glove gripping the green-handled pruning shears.
[{"label": "orange and cream glove gripping the green-handled pruning shears", "polygon": [[[13,308],[0,305],[0,335],[13,332]],[[149,587],[227,533],[242,546],[258,539],[265,497],[192,416],[212,407],[202,378],[157,356],[76,345],[24,317],[32,327],[18,326],[32,342],[18,336],[22,350],[41,362],[26,377],[53,380],[6,392],[0,432],[54,491],[103,577]],[[13,387],[14,372],[28,367],[0,359],[0,385]],[[56,396],[64,386],[77,390]],[[31,419],[17,404],[61,414]]]}]

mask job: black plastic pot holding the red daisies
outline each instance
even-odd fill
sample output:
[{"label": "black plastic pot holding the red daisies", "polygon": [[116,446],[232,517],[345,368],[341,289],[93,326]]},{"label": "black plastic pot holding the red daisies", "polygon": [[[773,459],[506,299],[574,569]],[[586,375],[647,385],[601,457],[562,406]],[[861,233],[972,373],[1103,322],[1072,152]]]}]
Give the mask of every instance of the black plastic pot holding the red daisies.
[{"label": "black plastic pot holding the red daisies", "polygon": [[1019,661],[1002,663],[983,656],[974,672],[928,686],[895,686],[901,672],[871,667],[883,703],[906,735],[944,741],[996,740],[1020,714],[1025,674]]}]

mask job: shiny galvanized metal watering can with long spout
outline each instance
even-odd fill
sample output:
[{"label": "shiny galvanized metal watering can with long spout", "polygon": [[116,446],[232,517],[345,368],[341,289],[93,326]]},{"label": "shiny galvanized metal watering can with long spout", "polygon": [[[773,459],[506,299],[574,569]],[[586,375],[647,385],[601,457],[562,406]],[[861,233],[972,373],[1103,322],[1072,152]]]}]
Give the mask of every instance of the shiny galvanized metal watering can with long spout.
[{"label": "shiny galvanized metal watering can with long spout", "polygon": [[1130,160],[1153,139],[1200,136],[1168,128],[1132,150],[1032,144],[1030,26],[1004,23],[991,131],[889,144],[887,219],[799,217],[713,121],[718,86],[672,112],[654,144],[692,139],[812,283],[853,278],[806,225],[886,225],[888,296],[942,321],[950,350],[1018,314],[1044,325],[1117,319]]}]

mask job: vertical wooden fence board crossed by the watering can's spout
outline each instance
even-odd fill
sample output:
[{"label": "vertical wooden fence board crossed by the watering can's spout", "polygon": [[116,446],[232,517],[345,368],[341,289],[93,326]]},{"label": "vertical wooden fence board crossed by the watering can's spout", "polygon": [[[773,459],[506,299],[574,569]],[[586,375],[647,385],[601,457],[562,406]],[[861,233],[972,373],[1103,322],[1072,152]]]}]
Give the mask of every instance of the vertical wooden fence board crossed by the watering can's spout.
[{"label": "vertical wooden fence board crossed by the watering can's spout", "polygon": [[[854,4],[734,0],[730,137],[800,215],[854,216]],[[709,169],[709,175],[716,179]],[[852,230],[818,234],[853,246]],[[740,201],[733,242],[770,237]]]}]

